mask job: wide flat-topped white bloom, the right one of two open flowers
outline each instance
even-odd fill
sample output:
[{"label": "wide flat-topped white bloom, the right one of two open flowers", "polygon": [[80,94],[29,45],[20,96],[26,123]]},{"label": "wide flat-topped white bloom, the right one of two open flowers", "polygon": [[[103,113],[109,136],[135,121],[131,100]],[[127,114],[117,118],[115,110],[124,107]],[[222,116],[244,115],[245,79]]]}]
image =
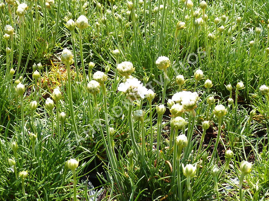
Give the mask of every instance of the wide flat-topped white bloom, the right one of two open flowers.
[{"label": "wide flat-topped white bloom, the right one of two open flowers", "polygon": [[196,107],[196,102],[198,101],[198,99],[199,96],[197,92],[191,92],[191,91],[181,91],[175,93],[172,96],[172,101],[181,104],[184,110],[187,111],[193,110]]}]

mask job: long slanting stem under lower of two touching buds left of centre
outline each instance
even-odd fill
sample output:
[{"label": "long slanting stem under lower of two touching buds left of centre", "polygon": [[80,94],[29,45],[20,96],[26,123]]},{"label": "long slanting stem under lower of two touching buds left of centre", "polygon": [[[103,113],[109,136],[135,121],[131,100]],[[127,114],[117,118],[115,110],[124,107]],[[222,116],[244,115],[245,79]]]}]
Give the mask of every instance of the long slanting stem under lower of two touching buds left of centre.
[{"label": "long slanting stem under lower of two touching buds left of centre", "polygon": [[[101,120],[100,120],[100,116],[99,116],[99,108],[98,108],[98,104],[97,104],[97,97],[96,97],[96,95],[94,95],[94,108],[95,108],[95,112],[96,112],[96,116],[97,116],[97,121],[98,121],[98,127],[99,127],[99,130],[100,130],[100,134],[101,134],[101,137],[102,137],[102,140],[103,140],[104,147],[106,149],[108,161],[109,161],[109,163],[111,165],[111,170],[112,170],[113,177],[116,180],[117,186],[121,186],[123,188],[122,183],[119,183],[119,181],[118,181],[118,177],[117,177],[117,174],[116,174],[115,169],[114,169],[114,167],[116,167],[116,165],[111,160],[112,153],[110,152],[110,149],[108,149],[108,146],[107,146],[107,143],[106,143],[106,138],[105,138],[105,135],[103,133],[103,128],[102,128],[102,124],[101,124]],[[131,113],[132,113],[132,107],[131,107]],[[120,191],[121,198],[123,200],[125,200],[125,198],[124,198],[124,196],[122,194],[121,188],[118,188],[118,189]]]}]

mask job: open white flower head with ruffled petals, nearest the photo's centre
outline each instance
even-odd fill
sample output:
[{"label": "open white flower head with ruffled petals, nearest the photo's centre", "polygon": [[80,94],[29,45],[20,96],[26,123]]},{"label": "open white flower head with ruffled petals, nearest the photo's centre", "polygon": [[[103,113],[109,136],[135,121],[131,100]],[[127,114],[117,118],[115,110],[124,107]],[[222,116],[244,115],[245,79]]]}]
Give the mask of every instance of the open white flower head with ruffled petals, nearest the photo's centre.
[{"label": "open white flower head with ruffled petals, nearest the photo's centre", "polygon": [[126,82],[120,83],[118,90],[126,94],[131,101],[144,98],[148,91],[137,78],[126,79]]}]

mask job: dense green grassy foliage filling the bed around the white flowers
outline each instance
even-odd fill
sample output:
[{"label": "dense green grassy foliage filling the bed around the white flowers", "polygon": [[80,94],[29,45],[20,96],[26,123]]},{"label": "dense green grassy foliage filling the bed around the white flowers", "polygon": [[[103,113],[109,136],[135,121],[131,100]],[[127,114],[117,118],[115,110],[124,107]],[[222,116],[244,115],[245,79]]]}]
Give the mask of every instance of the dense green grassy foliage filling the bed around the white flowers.
[{"label": "dense green grassy foliage filling the bed around the white flowers", "polygon": [[[216,191],[220,200],[269,198],[269,99],[268,93],[262,94],[259,90],[261,85],[269,85],[267,1],[207,1],[208,20],[198,26],[193,15],[199,10],[197,18],[203,17],[199,1],[193,1],[192,9],[186,10],[184,2],[172,0],[133,0],[133,9],[128,9],[127,1],[119,0],[57,0],[47,8],[44,1],[24,3],[28,8],[23,17],[18,17],[16,5],[6,2],[1,4],[0,12],[0,200],[74,200],[73,175],[65,166],[70,158],[79,161],[76,169],[78,200],[90,200],[90,197],[97,200],[97,193],[89,195],[88,186],[88,180],[94,182],[96,177],[99,182],[94,183],[94,187],[103,187],[103,200],[192,200],[191,197],[217,200]],[[162,8],[162,4],[167,7]],[[113,5],[115,15],[111,13]],[[89,26],[82,30],[76,27],[71,35],[66,22],[76,21],[80,15],[87,17]],[[216,17],[220,19],[217,25]],[[177,29],[179,21],[186,23],[184,29]],[[8,40],[2,37],[6,24],[14,28],[13,37]],[[224,26],[223,32],[220,32],[221,26]],[[257,28],[261,29],[260,33]],[[211,40],[209,33],[213,35]],[[254,45],[250,47],[252,40]],[[9,54],[7,47],[11,49]],[[71,64],[71,82],[67,79],[67,65],[61,61],[64,48],[71,50],[77,61]],[[113,53],[115,49],[119,49],[119,56]],[[163,71],[155,64],[159,56],[171,61],[167,68],[167,87]],[[116,70],[117,64],[123,61],[132,62],[135,67],[132,76],[156,93],[152,110],[147,99],[134,101],[130,108],[126,95],[117,91],[119,83],[125,81]],[[35,80],[33,65],[39,62],[42,64],[37,68],[40,79]],[[90,62],[95,63],[92,69],[88,68]],[[15,70],[13,76],[9,72],[11,67]],[[197,80],[196,87],[197,69],[204,75]],[[101,93],[96,96],[98,105],[85,85],[96,71],[108,75]],[[169,147],[175,144],[173,133],[177,130],[170,127],[167,101],[180,91],[176,82],[179,74],[185,78],[182,90],[196,91],[199,95],[195,117],[192,110],[184,111],[181,116],[187,125],[184,131],[178,131],[178,135],[189,137],[178,164],[197,166],[195,177],[190,179],[191,191],[181,165],[176,165],[176,152]],[[26,88],[22,101],[14,89],[18,79]],[[213,83],[209,91],[204,87],[206,79]],[[238,91],[236,101],[236,85],[241,81],[244,88]],[[71,83],[71,91],[68,83]],[[227,102],[230,92],[225,86],[228,84],[233,87],[234,104]],[[57,110],[55,107],[48,110],[45,101],[57,86],[62,98]],[[211,96],[215,102],[209,105],[207,100]],[[157,114],[155,106],[161,104],[163,97],[166,112],[162,116]],[[38,107],[32,112],[30,102],[33,100]],[[221,121],[213,111],[215,105],[220,104],[227,109]],[[132,119],[130,111],[138,109],[145,111],[143,121]],[[254,116],[250,113],[253,109],[256,110]],[[65,121],[57,122],[58,111],[66,113]],[[210,122],[207,130],[202,127],[204,120]],[[115,130],[111,136],[107,135],[109,127]],[[36,134],[34,141],[29,138],[30,133]],[[203,133],[205,140],[198,151]],[[157,138],[160,135],[161,138]],[[141,157],[139,152],[144,139],[146,151]],[[151,140],[153,150],[149,146]],[[17,156],[11,147],[14,141],[19,147]],[[160,153],[156,150],[159,142]],[[138,145],[138,150],[134,144]],[[216,153],[214,146],[218,147]],[[135,155],[129,158],[131,149]],[[224,153],[229,149],[234,155],[225,170],[229,160]],[[15,159],[15,166],[10,167],[9,158]],[[244,177],[240,190],[242,168],[239,167],[244,160],[254,166]],[[134,168],[130,167],[132,163]],[[215,164],[219,173],[213,177],[210,171]],[[25,190],[22,179],[16,178],[14,167],[17,173],[28,170]],[[181,178],[181,188],[178,178]],[[214,181],[218,189],[214,188]]]}]

